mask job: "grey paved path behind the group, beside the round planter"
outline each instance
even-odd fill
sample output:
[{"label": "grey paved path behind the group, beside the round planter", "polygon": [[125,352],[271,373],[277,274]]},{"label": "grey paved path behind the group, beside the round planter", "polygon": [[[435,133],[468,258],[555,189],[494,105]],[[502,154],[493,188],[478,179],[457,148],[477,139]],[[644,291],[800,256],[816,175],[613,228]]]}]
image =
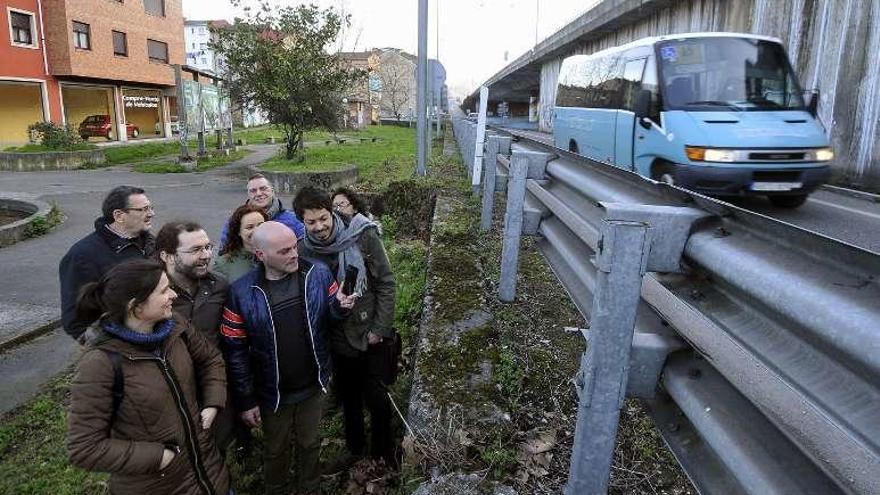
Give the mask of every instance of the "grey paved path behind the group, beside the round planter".
[{"label": "grey paved path behind the group, beside the round planter", "polygon": [[[126,166],[81,171],[0,172],[0,191],[25,193],[54,202],[65,216],[64,222],[49,234],[0,249],[0,352],[57,327],[60,318],[58,262],[74,242],[94,230],[94,221],[101,214],[101,202],[107,191],[123,184],[143,187],[156,208],[153,233],[167,221],[187,219],[201,223],[212,239],[218,239],[231,212],[247,199],[240,169],[262,163],[278,147],[249,148],[253,152],[245,158],[201,173],[141,174]],[[282,196],[282,200],[290,205],[290,198]],[[58,332],[53,335],[47,341],[53,348],[78,347],[72,339],[62,338]],[[6,374],[4,382],[23,380],[35,384],[35,391],[42,383],[39,380],[44,381],[51,375],[34,376],[28,366],[11,366],[13,362],[21,363],[21,356],[12,355],[18,351],[16,347],[12,352],[0,354],[0,368]],[[45,357],[73,359],[75,355],[77,353],[67,350]],[[33,358],[40,359],[39,356],[38,353]],[[20,376],[9,374],[19,366]],[[3,397],[12,392],[11,386],[0,390],[3,409],[10,405]],[[14,396],[16,403],[23,400],[20,390]]]}]

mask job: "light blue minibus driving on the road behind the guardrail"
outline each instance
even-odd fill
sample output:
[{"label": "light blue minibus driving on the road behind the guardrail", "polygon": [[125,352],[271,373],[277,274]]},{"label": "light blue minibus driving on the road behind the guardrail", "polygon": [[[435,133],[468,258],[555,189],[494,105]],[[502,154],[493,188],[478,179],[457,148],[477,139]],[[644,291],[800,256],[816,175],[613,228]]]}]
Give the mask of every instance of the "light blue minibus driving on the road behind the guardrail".
[{"label": "light blue minibus driving on the road behind the guardrail", "polygon": [[645,38],[566,58],[555,146],[713,196],[795,208],[834,158],[782,43],[739,33]]}]

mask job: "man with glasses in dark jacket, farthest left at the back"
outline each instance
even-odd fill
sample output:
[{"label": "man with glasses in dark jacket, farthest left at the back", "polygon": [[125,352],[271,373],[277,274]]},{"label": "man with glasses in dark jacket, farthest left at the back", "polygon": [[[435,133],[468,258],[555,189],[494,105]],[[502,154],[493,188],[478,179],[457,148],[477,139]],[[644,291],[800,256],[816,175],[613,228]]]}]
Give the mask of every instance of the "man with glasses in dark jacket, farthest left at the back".
[{"label": "man with glasses in dark jacket, farthest left at the back", "polygon": [[61,280],[61,323],[64,331],[84,343],[91,321],[75,318],[80,288],[96,282],[111,267],[130,258],[149,258],[154,239],[150,234],[153,205],[139,187],[117,186],[104,198],[95,231],[80,239],[58,265]]}]

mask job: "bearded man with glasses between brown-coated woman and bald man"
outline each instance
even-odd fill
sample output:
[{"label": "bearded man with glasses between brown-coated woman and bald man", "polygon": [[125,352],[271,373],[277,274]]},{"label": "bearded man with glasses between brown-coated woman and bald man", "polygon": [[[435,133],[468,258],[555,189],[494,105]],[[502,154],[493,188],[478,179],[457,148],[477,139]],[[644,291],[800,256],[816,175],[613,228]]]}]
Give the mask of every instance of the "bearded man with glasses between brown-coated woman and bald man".
[{"label": "bearded man with glasses between brown-coated woman and bald man", "polygon": [[[208,233],[195,222],[169,222],[156,235],[156,256],[165,265],[171,288],[177,293],[173,309],[177,318],[185,320],[220,350],[220,321],[229,283],[211,273],[214,245]],[[237,453],[250,449],[250,431],[228,404],[214,421],[214,435],[221,452],[237,439]]]}]

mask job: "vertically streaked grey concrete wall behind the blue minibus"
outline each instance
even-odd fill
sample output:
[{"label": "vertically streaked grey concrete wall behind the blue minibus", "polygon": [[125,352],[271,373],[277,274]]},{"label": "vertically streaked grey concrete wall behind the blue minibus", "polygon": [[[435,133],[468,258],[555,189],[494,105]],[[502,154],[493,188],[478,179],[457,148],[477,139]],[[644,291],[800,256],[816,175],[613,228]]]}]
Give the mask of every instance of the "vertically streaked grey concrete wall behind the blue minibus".
[{"label": "vertically streaked grey concrete wall behind the blue minibus", "polygon": [[[647,16],[646,10],[651,11]],[[606,0],[558,34],[576,30],[578,23],[613,29],[566,45],[558,57],[543,63],[541,130],[552,130],[549,117],[559,64],[569,55],[594,53],[647,36],[694,31],[775,36],[786,46],[804,89],[821,92],[819,118],[834,144],[836,176],[880,188],[880,1],[682,0],[670,5]]]}]

